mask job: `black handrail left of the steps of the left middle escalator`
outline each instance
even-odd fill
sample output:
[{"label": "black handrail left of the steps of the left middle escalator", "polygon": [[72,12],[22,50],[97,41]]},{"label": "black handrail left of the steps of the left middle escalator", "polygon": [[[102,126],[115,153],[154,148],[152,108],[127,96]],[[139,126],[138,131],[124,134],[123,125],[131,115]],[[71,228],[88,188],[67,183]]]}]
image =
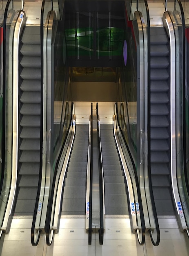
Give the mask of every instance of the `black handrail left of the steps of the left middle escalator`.
[{"label": "black handrail left of the steps of the left middle escalator", "polygon": [[45,225],[46,242],[47,242],[48,246],[51,245],[52,240],[53,240],[53,239],[50,239],[50,225],[51,225],[51,213],[52,213],[52,206],[53,206],[53,195],[54,195],[54,191],[55,191],[56,175],[57,175],[58,165],[59,165],[59,162],[60,162],[62,151],[64,150],[64,147],[65,147],[65,144],[66,144],[66,141],[67,141],[67,137],[68,137],[69,132],[70,132],[71,124],[73,124],[73,102],[71,103],[69,127],[68,127],[68,130],[67,130],[66,136],[64,138],[60,153],[58,155],[58,159],[56,161],[52,186],[51,186],[50,192],[49,192],[50,198],[49,198],[49,202],[48,202],[47,219],[46,219],[46,225]]}]

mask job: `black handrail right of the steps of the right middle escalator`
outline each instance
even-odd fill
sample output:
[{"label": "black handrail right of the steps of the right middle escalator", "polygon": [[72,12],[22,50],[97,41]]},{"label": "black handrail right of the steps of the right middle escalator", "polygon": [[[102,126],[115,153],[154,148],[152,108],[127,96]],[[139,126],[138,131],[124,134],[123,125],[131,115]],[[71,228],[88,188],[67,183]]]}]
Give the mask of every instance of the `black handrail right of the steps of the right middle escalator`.
[{"label": "black handrail right of the steps of the right middle escalator", "polygon": [[144,212],[143,212],[143,207],[142,207],[142,198],[141,198],[141,194],[140,194],[140,186],[139,186],[139,182],[138,182],[138,175],[137,175],[137,171],[136,171],[136,166],[134,164],[134,161],[133,161],[133,157],[131,155],[131,152],[129,150],[129,146],[127,144],[127,141],[124,137],[124,134],[122,132],[122,129],[121,129],[121,126],[120,126],[120,122],[119,122],[119,115],[118,115],[118,104],[117,102],[115,103],[116,104],[116,116],[117,116],[117,121],[118,121],[118,127],[119,127],[119,130],[121,132],[121,135],[122,135],[122,138],[124,140],[124,144],[127,148],[127,151],[129,153],[129,157],[131,159],[131,163],[132,163],[132,166],[133,166],[133,171],[134,171],[134,176],[135,176],[135,182],[136,182],[136,187],[137,187],[137,197],[138,197],[138,204],[139,204],[139,209],[140,209],[140,221],[141,221],[141,235],[142,235],[142,239],[140,240],[138,238],[138,233],[137,233],[137,238],[138,238],[138,243],[140,245],[144,245],[145,244],[145,230],[146,230],[146,227],[145,227],[145,218],[144,218]]}]

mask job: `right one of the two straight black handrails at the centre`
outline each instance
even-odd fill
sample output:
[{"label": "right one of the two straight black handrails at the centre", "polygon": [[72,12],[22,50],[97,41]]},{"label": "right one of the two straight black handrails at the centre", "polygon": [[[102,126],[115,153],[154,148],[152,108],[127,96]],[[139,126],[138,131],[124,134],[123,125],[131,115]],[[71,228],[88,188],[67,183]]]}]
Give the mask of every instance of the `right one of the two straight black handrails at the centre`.
[{"label": "right one of the two straight black handrails at the centre", "polygon": [[103,173],[102,173],[102,155],[100,147],[100,130],[99,130],[99,115],[98,102],[96,103],[97,115],[97,137],[98,137],[98,164],[99,164],[99,194],[100,194],[100,229],[99,229],[99,243],[103,245],[104,240],[104,202],[103,202]]}]

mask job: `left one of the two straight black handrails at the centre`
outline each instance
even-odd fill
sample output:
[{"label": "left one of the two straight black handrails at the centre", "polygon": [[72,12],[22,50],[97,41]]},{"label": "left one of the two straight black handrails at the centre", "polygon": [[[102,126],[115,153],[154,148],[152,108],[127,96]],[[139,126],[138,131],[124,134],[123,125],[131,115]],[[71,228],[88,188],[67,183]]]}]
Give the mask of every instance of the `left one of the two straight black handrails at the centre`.
[{"label": "left one of the two straight black handrails at the centre", "polygon": [[91,103],[91,162],[90,162],[90,186],[89,186],[89,230],[88,244],[92,241],[92,196],[93,196],[93,103]]}]

